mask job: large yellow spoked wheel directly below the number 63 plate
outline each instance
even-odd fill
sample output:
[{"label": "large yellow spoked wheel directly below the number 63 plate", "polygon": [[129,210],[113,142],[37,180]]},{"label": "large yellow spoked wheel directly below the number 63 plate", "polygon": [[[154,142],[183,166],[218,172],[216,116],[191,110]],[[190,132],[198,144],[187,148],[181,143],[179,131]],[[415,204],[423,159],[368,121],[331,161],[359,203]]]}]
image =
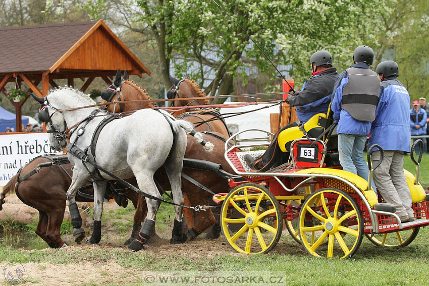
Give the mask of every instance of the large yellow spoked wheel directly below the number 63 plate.
[{"label": "large yellow spoked wheel directly below the number 63 plate", "polygon": [[[307,226],[306,221],[312,221],[313,226]],[[362,242],[362,212],[348,193],[320,189],[302,205],[299,236],[305,250],[313,256],[351,257]]]}]

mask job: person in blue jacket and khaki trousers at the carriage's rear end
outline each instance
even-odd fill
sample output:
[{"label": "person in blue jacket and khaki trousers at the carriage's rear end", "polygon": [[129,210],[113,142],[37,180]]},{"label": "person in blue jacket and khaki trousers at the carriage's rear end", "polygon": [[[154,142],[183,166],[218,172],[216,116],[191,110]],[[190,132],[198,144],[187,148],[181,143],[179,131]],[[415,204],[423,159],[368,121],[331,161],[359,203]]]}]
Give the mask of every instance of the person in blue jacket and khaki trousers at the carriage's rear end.
[{"label": "person in blue jacket and khaki trousers at the carriage's rear end", "polygon": [[[399,67],[394,61],[380,63],[376,71],[380,80],[380,100],[368,143],[380,145],[384,158],[374,170],[374,181],[384,201],[396,206],[396,214],[401,222],[413,221],[411,194],[404,175],[404,153],[410,152],[410,95],[396,79]],[[372,152],[374,165],[378,164],[380,158],[380,150]]]}]

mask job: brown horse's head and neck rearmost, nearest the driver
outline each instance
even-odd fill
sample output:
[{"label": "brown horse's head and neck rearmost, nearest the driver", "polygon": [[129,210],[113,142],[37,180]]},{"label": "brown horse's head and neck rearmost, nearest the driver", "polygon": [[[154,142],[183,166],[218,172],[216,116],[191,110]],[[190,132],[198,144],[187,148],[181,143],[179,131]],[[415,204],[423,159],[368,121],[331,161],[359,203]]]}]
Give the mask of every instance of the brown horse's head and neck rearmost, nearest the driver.
[{"label": "brown horse's head and neck rearmost, nearest the driver", "polygon": [[[206,105],[208,100],[206,94],[199,88],[195,81],[191,81],[189,78],[182,78],[180,80],[170,77],[171,82],[174,84],[173,89],[167,92],[167,97],[180,98],[185,100],[176,100],[173,106],[194,106],[194,105]],[[190,99],[191,97],[201,97],[201,99]]]}]

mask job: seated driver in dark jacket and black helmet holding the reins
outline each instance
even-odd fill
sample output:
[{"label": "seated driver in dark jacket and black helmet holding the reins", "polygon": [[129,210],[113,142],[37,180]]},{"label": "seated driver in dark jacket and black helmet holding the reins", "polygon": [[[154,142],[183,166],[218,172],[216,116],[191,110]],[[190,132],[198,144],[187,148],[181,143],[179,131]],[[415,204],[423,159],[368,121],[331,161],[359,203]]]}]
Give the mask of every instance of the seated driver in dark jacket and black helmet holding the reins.
[{"label": "seated driver in dark jacket and black helmet holding the reins", "polygon": [[[311,55],[311,77],[304,82],[301,91],[290,94],[286,102],[296,107],[296,114],[300,122],[307,122],[317,113],[327,113],[331,102],[334,83],[338,77],[337,69],[332,67],[332,55],[326,50],[316,51]],[[289,158],[289,152],[280,150],[277,135],[282,131],[298,126],[293,122],[282,128],[273,138],[270,146],[259,158],[247,154],[246,162],[257,171],[266,171],[278,166]]]}]

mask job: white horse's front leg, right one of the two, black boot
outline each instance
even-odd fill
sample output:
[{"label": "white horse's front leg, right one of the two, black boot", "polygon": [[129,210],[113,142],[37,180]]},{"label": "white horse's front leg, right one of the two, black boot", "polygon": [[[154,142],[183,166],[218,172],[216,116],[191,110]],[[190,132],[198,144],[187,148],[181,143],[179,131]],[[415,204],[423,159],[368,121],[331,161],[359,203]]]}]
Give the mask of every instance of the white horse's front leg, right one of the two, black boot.
[{"label": "white horse's front leg, right one of the two, black boot", "polygon": [[99,243],[101,240],[101,216],[103,214],[104,193],[107,183],[104,180],[96,180],[94,185],[94,225],[92,234],[86,243]]}]

